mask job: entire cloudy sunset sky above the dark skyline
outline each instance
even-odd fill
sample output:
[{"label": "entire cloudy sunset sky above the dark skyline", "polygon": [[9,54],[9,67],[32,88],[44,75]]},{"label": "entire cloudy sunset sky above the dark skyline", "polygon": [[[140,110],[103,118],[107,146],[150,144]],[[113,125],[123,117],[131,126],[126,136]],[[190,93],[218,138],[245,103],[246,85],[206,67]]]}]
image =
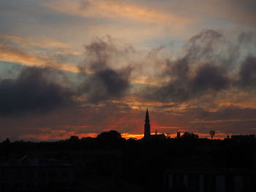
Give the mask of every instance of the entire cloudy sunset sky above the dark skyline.
[{"label": "entire cloudy sunset sky above the dark skyline", "polygon": [[255,7],[0,0],[0,141],[255,134]]}]

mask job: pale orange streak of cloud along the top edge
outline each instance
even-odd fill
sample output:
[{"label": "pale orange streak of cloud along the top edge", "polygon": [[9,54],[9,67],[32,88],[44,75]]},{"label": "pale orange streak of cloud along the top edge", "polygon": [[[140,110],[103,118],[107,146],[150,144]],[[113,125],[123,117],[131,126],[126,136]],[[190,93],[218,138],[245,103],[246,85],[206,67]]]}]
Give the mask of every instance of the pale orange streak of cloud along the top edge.
[{"label": "pale orange streak of cloud along the top edge", "polygon": [[45,6],[79,17],[130,19],[146,23],[191,23],[191,18],[139,7],[124,1],[56,1]]}]

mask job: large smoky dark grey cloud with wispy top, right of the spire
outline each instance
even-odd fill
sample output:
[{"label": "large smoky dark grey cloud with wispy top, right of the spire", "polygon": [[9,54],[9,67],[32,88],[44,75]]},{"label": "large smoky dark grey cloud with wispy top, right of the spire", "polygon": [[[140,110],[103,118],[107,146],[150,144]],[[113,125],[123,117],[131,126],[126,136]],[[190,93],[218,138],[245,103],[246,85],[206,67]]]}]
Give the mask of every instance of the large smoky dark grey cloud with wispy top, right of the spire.
[{"label": "large smoky dark grey cloud with wispy top, right of the spire", "polygon": [[[176,61],[167,60],[159,80],[160,87],[150,87],[147,99],[155,101],[188,101],[201,96],[216,96],[229,88],[255,86],[256,59],[248,57],[237,70],[239,49],[251,35],[241,34],[238,45],[227,43],[217,31],[206,30],[189,39],[185,54]],[[244,45],[243,45],[244,46]],[[239,82],[237,83],[237,77]]]}]

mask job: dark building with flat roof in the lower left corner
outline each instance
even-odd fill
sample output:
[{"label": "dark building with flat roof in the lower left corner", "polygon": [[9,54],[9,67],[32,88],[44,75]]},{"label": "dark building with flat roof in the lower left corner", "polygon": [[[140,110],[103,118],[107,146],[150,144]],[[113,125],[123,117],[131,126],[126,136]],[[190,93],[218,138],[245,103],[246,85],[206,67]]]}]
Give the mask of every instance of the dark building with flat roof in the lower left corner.
[{"label": "dark building with flat roof in the lower left corner", "polygon": [[25,156],[0,164],[0,191],[69,191],[74,179],[74,167],[66,161]]}]

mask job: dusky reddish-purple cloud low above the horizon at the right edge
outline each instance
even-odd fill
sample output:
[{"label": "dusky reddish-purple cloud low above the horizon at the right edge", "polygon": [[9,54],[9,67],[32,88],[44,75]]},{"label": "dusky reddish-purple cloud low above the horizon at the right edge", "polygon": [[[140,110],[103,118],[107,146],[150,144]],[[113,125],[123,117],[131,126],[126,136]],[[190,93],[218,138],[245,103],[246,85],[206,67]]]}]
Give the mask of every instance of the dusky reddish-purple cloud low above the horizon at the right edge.
[{"label": "dusky reddish-purple cloud low above the horizon at the right edge", "polygon": [[[182,118],[187,117],[187,126],[198,132],[210,130],[225,134],[252,134],[256,123],[256,110],[241,107],[223,107],[214,112],[194,108],[181,112]],[[181,119],[180,119],[181,120]]]}]

